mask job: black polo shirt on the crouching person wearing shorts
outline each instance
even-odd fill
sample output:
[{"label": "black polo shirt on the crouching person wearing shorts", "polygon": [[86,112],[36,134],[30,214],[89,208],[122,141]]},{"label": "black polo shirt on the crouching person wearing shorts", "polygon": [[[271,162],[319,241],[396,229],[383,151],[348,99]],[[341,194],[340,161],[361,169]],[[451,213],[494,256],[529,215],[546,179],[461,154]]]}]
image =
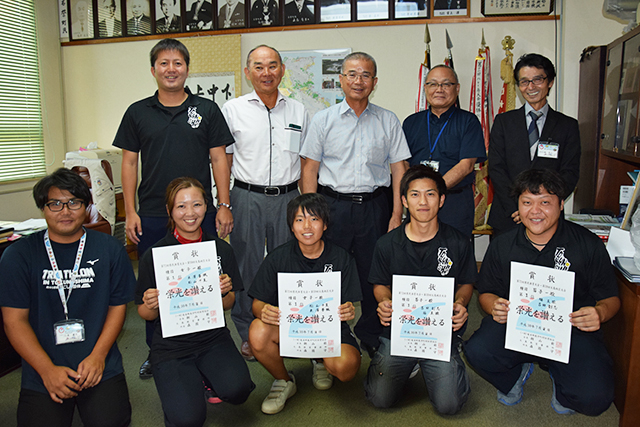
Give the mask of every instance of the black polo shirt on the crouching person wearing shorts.
[{"label": "black polo shirt on the crouching person wearing shorts", "polygon": [[341,304],[362,300],[356,263],[347,251],[325,241],[322,255],[316,259],[309,259],[302,255],[300,245],[295,239],[278,246],[267,255],[253,279],[249,296],[277,307],[278,273],[323,273],[329,271],[341,273]]}]

